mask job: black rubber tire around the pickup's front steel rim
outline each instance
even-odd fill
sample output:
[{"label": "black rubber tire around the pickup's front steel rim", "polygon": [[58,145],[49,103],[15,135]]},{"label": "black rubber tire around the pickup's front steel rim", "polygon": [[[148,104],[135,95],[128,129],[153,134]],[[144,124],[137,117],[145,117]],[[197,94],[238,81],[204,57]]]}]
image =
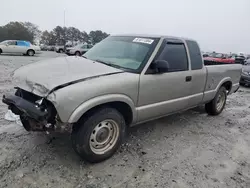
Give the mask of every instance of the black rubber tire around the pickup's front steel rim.
[{"label": "black rubber tire around the pickup's front steel rim", "polygon": [[[116,129],[118,134],[113,143],[107,144],[107,147],[109,147],[107,151],[97,154],[94,149],[92,149],[93,146],[91,146],[91,144],[93,144],[94,141],[91,139],[91,136],[95,134],[96,127],[100,127],[100,124],[106,120],[116,122],[118,125],[118,129]],[[71,135],[73,149],[80,157],[91,163],[101,162],[110,158],[122,144],[126,135],[126,124],[123,116],[116,109],[110,107],[95,110],[87,117],[81,118],[74,127],[76,128],[73,129]],[[100,128],[99,131],[101,129],[102,128]],[[97,132],[96,135],[98,135]],[[108,134],[107,137],[108,138],[105,138],[106,140],[112,140],[110,134]],[[112,146],[110,146],[111,144]],[[101,145],[101,147],[104,146]]]}]

